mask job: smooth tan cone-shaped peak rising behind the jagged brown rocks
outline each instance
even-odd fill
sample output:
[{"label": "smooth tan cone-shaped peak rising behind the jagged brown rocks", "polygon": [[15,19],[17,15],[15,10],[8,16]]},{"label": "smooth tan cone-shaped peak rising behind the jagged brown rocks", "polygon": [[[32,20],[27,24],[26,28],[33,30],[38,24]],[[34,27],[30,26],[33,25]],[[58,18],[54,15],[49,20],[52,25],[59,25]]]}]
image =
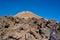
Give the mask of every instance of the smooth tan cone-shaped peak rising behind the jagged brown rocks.
[{"label": "smooth tan cone-shaped peak rising behind the jagged brown rocks", "polygon": [[25,19],[32,18],[32,17],[42,18],[42,17],[39,17],[39,16],[35,15],[34,13],[29,12],[29,11],[20,12],[17,15],[15,15],[14,17],[25,18]]}]

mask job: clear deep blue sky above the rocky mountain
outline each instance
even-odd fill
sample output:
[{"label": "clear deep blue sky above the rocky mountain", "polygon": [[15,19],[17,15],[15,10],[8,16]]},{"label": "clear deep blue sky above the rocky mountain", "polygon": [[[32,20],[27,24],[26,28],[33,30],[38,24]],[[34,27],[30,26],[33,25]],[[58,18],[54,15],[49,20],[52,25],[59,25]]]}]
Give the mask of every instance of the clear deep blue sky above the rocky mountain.
[{"label": "clear deep blue sky above the rocky mountain", "polygon": [[0,0],[0,16],[15,15],[25,10],[60,22],[60,0]]}]

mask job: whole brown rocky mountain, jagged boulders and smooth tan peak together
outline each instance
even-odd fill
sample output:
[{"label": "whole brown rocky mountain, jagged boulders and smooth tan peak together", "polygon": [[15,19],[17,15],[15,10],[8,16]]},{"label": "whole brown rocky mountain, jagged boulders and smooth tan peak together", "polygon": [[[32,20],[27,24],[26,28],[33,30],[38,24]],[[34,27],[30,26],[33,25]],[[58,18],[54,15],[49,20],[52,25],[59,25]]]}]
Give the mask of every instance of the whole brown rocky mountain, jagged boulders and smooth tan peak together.
[{"label": "whole brown rocky mountain, jagged boulders and smooth tan peak together", "polygon": [[0,18],[0,40],[60,40],[60,23],[32,12]]}]

